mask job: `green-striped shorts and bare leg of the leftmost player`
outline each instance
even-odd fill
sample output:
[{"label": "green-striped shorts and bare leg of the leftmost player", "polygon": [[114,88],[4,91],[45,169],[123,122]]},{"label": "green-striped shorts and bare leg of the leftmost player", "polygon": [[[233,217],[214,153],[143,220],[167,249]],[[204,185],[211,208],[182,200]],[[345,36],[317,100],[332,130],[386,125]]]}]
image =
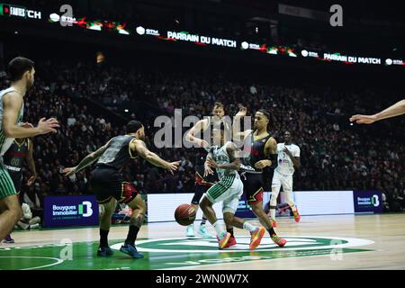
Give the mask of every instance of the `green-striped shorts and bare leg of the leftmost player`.
[{"label": "green-striped shorts and bare leg of the leftmost player", "polygon": [[4,239],[23,216],[18,195],[8,172],[0,166],[0,240]]}]

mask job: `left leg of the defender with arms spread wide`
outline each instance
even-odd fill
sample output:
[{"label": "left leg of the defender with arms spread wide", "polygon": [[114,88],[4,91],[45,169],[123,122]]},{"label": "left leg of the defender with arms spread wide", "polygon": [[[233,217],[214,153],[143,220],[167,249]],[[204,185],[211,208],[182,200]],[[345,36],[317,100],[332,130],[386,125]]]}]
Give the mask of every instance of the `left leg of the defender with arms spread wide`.
[{"label": "left leg of the defender with arms spread wide", "polygon": [[111,228],[111,217],[117,206],[117,201],[110,197],[103,205],[103,214],[100,217],[100,245],[97,250],[97,255],[101,257],[112,256],[112,249],[108,245],[108,233]]}]

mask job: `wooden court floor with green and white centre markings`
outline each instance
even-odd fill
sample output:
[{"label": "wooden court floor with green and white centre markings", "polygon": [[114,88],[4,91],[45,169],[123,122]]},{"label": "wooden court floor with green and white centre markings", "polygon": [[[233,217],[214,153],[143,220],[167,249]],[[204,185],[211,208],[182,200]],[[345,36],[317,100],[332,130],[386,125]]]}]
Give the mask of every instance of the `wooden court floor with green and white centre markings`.
[{"label": "wooden court floor with green and white centre markings", "polygon": [[405,269],[405,213],[303,216],[300,223],[283,217],[278,223],[287,245],[275,247],[266,235],[254,251],[242,229],[235,229],[237,246],[218,250],[216,238],[185,238],[174,222],[149,223],[137,240],[142,259],[119,251],[126,226],[112,227],[114,255],[105,258],[95,256],[97,228],[16,231],[14,244],[0,244],[0,269]]}]

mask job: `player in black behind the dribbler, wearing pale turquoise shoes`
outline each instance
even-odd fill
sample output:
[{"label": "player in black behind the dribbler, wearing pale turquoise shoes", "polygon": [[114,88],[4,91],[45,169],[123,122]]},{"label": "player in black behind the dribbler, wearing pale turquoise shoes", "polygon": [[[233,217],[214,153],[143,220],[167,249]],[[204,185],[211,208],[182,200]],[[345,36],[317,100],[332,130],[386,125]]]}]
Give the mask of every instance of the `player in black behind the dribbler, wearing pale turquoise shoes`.
[{"label": "player in black behind the dribbler, wearing pale turquoise shoes", "polygon": [[[207,190],[218,181],[218,175],[216,175],[215,171],[211,175],[204,176],[204,161],[205,157],[207,156],[207,151],[210,148],[210,143],[208,143],[204,139],[199,139],[195,137],[198,133],[203,133],[204,131],[213,127],[215,125],[220,125],[220,120],[225,115],[223,104],[220,102],[215,102],[212,108],[212,116],[209,118],[202,119],[197,121],[193,128],[187,132],[185,135],[185,139],[188,141],[197,144],[199,147],[196,158],[195,158],[195,184],[194,184],[194,196],[192,199],[192,205],[195,211],[198,211],[198,205],[202,198],[203,193],[207,192]],[[212,238],[211,233],[206,229],[205,223],[207,219],[204,215],[202,215],[202,222],[200,224],[200,228],[198,229],[198,233],[203,238]],[[186,237],[194,237],[194,223],[187,226]]]}]

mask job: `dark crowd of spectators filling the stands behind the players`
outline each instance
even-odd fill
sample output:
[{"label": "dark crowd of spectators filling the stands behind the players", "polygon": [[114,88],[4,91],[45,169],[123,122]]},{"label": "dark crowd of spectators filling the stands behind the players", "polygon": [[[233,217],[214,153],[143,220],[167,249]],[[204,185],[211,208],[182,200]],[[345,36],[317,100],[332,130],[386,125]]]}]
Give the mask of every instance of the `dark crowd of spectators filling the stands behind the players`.
[{"label": "dark crowd of spectators filling the stands behind the players", "polygon": [[[365,103],[356,100],[365,92],[238,81],[222,74],[166,73],[80,63],[55,67],[50,61],[41,63],[39,70],[42,73],[36,75],[25,99],[24,121],[36,124],[41,117],[56,117],[61,127],[57,134],[33,139],[38,178],[34,185],[23,186],[31,199],[35,199],[35,193],[90,193],[90,168],[70,177],[64,177],[61,170],[76,166],[85,155],[124,132],[125,121],[117,124],[110,113],[94,113],[83,99],[101,103],[109,112],[121,113],[123,107],[137,105],[150,107],[143,113],[130,111],[127,119],[144,122],[148,147],[163,158],[181,160],[181,166],[178,173],[170,175],[137,158],[125,167],[125,175],[141,193],[193,192],[195,148],[154,147],[154,133],[159,129],[154,127],[154,119],[158,115],[173,118],[177,108],[182,109],[183,117],[202,118],[210,115],[212,103],[219,101],[228,115],[238,112],[241,105],[250,114],[262,107],[270,110],[274,116],[271,133],[278,142],[283,142],[285,130],[292,132],[302,159],[294,175],[294,190],[379,190],[384,194],[386,210],[400,211],[404,205],[404,119],[375,124],[373,130],[347,122],[347,111],[374,112],[387,106],[390,98]],[[7,85],[1,74],[1,88]],[[366,93],[370,99],[378,98],[376,92]],[[24,184],[29,177],[26,169]]]}]

